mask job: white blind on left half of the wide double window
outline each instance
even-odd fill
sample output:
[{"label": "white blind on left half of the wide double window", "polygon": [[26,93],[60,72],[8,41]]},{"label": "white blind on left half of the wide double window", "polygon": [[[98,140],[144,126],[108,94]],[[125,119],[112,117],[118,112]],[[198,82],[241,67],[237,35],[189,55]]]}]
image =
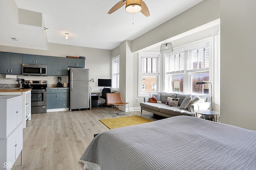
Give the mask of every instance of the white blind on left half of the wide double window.
[{"label": "white blind on left half of the wide double window", "polygon": [[184,53],[169,54],[166,57],[167,74],[184,73]]}]

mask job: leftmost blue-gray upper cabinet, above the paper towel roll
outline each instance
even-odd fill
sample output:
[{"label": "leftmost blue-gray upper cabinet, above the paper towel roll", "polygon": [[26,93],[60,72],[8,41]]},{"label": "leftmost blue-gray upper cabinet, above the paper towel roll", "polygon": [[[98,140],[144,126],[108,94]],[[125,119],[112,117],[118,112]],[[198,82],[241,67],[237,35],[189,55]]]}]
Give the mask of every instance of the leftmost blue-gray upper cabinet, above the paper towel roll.
[{"label": "leftmost blue-gray upper cabinet, above the paper towel roll", "polygon": [[1,52],[0,74],[22,74],[22,54]]}]

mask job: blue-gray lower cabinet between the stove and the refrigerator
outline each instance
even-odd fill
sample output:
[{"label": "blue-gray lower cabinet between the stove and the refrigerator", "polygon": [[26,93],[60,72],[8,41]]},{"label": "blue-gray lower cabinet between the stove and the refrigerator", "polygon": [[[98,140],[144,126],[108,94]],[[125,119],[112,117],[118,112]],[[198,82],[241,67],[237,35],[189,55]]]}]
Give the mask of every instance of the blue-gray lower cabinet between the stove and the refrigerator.
[{"label": "blue-gray lower cabinet between the stove and the refrigerator", "polygon": [[69,107],[69,89],[47,88],[47,109]]}]

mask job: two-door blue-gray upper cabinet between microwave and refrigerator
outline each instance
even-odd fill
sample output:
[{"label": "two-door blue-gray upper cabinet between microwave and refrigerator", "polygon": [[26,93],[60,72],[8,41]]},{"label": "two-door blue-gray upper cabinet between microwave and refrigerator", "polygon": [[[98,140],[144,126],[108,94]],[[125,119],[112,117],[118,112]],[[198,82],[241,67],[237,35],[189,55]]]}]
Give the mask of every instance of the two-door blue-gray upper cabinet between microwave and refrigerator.
[{"label": "two-door blue-gray upper cabinet between microwave and refrigerator", "polygon": [[47,57],[47,75],[67,76],[68,59],[65,57]]}]

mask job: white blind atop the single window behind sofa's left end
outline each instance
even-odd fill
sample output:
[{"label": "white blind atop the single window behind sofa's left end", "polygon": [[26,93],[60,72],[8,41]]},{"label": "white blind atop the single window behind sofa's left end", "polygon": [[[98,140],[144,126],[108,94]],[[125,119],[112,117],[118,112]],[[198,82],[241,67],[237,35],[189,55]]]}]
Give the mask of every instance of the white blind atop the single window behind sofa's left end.
[{"label": "white blind atop the single window behind sofa's left end", "polygon": [[141,57],[142,73],[158,73],[158,57]]}]

